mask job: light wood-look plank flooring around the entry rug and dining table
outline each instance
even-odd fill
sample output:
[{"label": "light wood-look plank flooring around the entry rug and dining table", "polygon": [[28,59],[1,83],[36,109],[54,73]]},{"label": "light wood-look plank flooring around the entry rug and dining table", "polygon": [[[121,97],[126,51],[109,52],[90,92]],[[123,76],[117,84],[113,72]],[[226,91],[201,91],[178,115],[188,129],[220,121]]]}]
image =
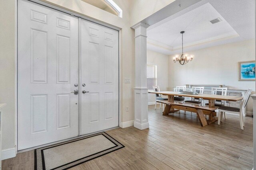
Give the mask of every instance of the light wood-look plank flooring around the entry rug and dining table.
[{"label": "light wood-look plank flooring around the entry rug and dining table", "polygon": [[[181,111],[163,116],[163,109],[157,107],[148,108],[149,129],[106,131],[124,148],[71,169],[252,170],[252,117],[245,117],[244,131],[238,116],[230,114],[220,125],[201,127],[196,114]],[[2,169],[34,169],[34,151],[3,160]]]}]

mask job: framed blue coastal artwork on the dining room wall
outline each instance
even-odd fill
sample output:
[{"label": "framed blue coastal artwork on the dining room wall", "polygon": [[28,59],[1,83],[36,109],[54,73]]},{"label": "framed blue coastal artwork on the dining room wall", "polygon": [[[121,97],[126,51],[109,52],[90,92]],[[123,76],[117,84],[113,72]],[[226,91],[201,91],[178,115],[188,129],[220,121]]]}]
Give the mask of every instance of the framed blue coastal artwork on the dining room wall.
[{"label": "framed blue coastal artwork on the dining room wall", "polygon": [[255,81],[255,61],[238,62],[238,81]]}]

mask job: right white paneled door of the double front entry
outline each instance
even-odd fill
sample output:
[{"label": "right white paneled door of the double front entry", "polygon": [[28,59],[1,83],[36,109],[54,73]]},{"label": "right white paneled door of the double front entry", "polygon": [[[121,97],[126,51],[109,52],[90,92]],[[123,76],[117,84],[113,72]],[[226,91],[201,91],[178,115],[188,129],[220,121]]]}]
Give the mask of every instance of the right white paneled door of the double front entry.
[{"label": "right white paneled door of the double front entry", "polygon": [[81,132],[88,134],[118,126],[118,31],[79,19]]}]

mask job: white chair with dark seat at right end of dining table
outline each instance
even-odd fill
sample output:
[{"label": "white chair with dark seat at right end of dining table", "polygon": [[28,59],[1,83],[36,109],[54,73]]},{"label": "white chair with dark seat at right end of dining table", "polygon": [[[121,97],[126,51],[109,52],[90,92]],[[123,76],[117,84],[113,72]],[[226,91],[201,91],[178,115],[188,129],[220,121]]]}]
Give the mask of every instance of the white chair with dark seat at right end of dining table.
[{"label": "white chair with dark seat at right end of dining table", "polygon": [[252,93],[252,89],[248,89],[244,95],[243,100],[240,102],[240,108],[229,107],[229,106],[220,106],[218,108],[218,110],[219,110],[218,125],[220,125],[220,122],[222,122],[224,112],[235,113],[235,114],[239,114],[240,128],[242,130],[244,130],[244,109],[247,105],[247,102],[250,98],[251,93]]}]

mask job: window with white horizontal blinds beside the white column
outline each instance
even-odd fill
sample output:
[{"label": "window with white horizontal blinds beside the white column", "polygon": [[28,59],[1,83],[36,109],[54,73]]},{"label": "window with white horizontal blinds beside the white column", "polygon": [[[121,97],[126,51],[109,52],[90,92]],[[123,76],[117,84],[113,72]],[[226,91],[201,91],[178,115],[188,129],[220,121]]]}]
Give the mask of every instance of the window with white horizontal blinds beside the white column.
[{"label": "window with white horizontal blinds beside the white column", "polygon": [[153,86],[157,85],[157,66],[147,64],[147,88],[153,90]]}]

